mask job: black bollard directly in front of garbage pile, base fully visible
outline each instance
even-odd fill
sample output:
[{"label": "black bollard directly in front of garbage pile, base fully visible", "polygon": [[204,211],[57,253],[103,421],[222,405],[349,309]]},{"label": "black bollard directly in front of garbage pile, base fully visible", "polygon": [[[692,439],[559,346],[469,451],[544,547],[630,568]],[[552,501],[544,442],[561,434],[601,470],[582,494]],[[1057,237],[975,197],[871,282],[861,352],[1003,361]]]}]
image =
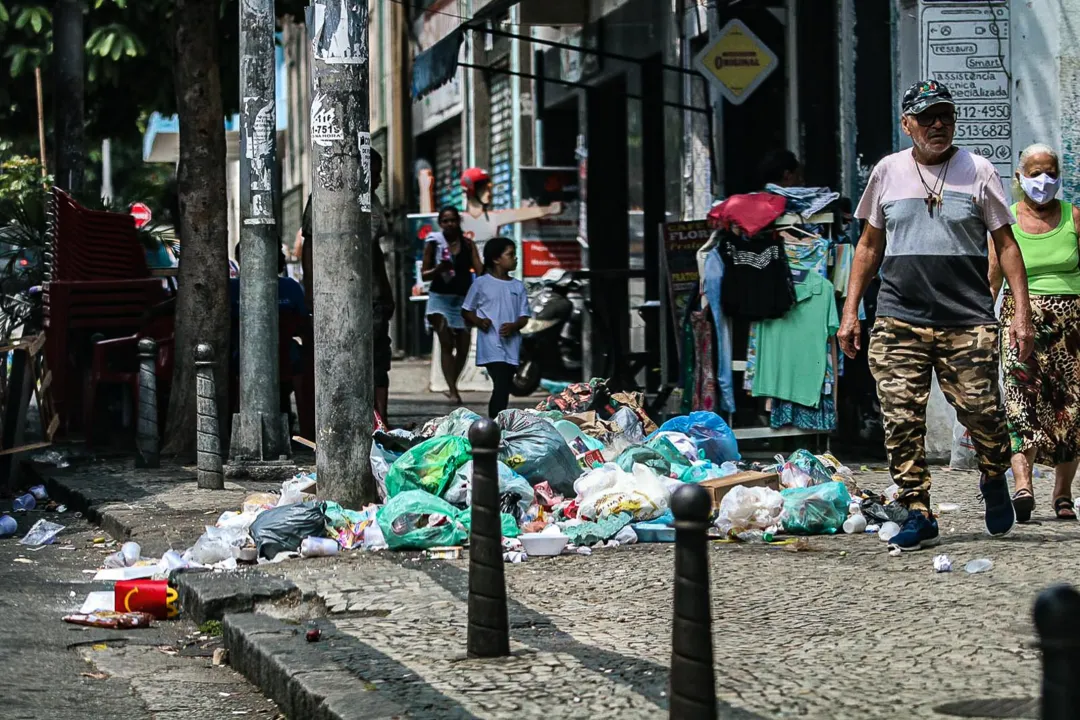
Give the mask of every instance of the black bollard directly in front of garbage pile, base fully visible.
[{"label": "black bollard directly in front of garbage pile, base fully visible", "polygon": [[499,516],[499,426],[490,420],[477,420],[469,429],[473,456],[472,538],[469,541],[470,657],[510,654]]}]

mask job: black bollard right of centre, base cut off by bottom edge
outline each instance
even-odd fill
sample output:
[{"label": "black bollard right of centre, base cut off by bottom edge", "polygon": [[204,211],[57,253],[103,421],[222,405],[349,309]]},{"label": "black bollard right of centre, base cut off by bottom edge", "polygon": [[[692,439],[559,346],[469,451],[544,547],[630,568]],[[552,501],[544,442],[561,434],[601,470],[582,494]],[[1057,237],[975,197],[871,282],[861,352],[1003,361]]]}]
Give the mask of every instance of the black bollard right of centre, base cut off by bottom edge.
[{"label": "black bollard right of centre, base cut off by bottom edge", "polygon": [[716,718],[708,541],[705,535],[711,510],[712,499],[700,486],[685,485],[672,495],[672,514],[675,515],[675,612],[669,717],[673,720]]}]

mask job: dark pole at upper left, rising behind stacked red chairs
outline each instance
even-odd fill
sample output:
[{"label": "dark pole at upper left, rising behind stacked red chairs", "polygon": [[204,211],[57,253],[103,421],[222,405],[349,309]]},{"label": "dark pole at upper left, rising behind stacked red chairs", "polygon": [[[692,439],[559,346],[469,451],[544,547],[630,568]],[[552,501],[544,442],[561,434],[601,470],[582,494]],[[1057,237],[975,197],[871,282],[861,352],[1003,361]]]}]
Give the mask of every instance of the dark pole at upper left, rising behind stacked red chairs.
[{"label": "dark pole at upper left, rising behind stacked red chairs", "polygon": [[56,131],[55,182],[68,192],[82,190],[85,95],[84,0],[56,0],[53,12],[53,122]]}]

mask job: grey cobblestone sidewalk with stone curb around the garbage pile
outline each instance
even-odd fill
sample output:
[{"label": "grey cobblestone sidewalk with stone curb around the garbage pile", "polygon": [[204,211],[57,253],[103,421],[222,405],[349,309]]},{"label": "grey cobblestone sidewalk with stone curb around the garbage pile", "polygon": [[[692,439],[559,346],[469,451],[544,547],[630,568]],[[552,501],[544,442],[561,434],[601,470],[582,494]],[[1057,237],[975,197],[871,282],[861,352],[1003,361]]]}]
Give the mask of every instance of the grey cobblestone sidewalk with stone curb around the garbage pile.
[{"label": "grey cobblestone sidewalk with stone curb around the garbage pile", "polygon": [[[117,461],[38,472],[147,554],[184,549],[268,489],[198,491],[189,470]],[[1075,574],[1080,525],[1052,519],[1050,481],[1037,479],[1037,522],[991,541],[975,475],[937,468],[934,479],[935,502],[960,505],[942,516],[937,551],[890,557],[870,535],[812,538],[807,552],[712,545],[720,717],[929,718],[963,703],[961,717],[1037,717],[1031,603]],[[937,553],[951,573],[934,573]],[[991,571],[963,571],[981,557]],[[292,718],[624,720],[666,714],[672,573],[665,545],[508,566],[514,654],[499,661],[464,658],[467,560],[352,552],[177,582],[185,614],[221,619],[233,667]],[[305,639],[312,625],[318,642]]]}]

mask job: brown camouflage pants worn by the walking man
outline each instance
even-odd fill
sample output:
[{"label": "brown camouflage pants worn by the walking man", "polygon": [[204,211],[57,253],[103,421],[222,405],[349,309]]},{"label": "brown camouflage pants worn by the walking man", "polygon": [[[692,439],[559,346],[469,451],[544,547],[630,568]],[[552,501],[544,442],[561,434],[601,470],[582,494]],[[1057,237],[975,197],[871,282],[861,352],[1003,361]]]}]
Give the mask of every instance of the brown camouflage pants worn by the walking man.
[{"label": "brown camouflage pants worn by the walking man", "polygon": [[984,475],[1009,467],[1009,435],[998,389],[998,328],[933,328],[880,317],[870,332],[869,367],[881,403],[889,470],[909,508],[930,510],[927,403],[931,371],[971,434]]}]

